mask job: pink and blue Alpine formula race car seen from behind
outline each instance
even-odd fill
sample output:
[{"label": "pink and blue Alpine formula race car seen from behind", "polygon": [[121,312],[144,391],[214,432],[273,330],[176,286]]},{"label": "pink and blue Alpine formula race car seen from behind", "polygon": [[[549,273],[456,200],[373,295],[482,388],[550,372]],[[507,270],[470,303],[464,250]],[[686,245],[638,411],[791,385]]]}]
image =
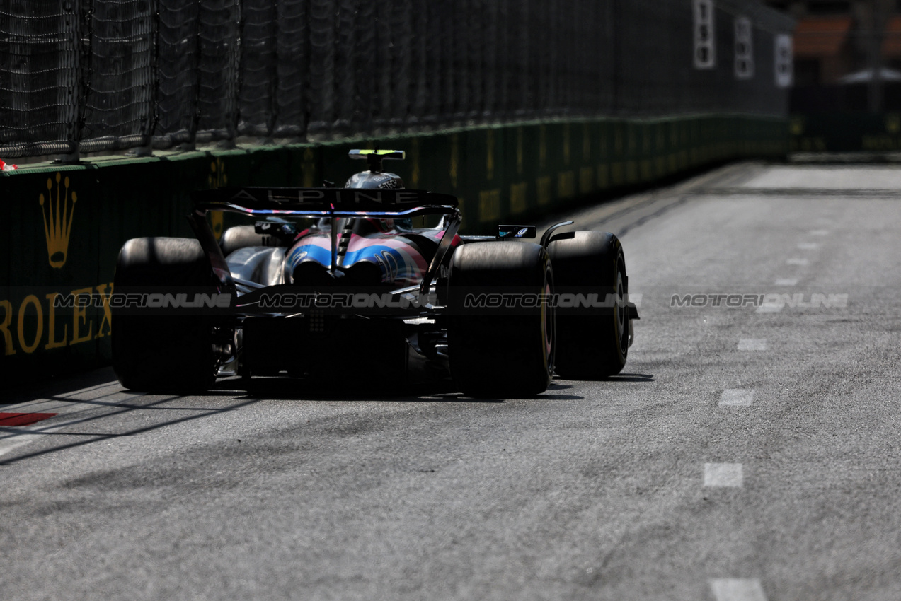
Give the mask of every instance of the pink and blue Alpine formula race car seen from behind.
[{"label": "pink and blue Alpine formula race car seen from behind", "polygon": [[[567,221],[539,244],[524,239],[534,226],[459,236],[456,198],[406,190],[383,170],[403,151],[350,157],[369,170],[344,188],[198,192],[196,240],[125,243],[111,303],[125,388],[287,375],[398,390],[452,378],[470,396],[515,398],[547,390],[555,371],[623,369],[638,314],[613,234],[560,232]],[[257,221],[216,240],[207,211]]]}]

